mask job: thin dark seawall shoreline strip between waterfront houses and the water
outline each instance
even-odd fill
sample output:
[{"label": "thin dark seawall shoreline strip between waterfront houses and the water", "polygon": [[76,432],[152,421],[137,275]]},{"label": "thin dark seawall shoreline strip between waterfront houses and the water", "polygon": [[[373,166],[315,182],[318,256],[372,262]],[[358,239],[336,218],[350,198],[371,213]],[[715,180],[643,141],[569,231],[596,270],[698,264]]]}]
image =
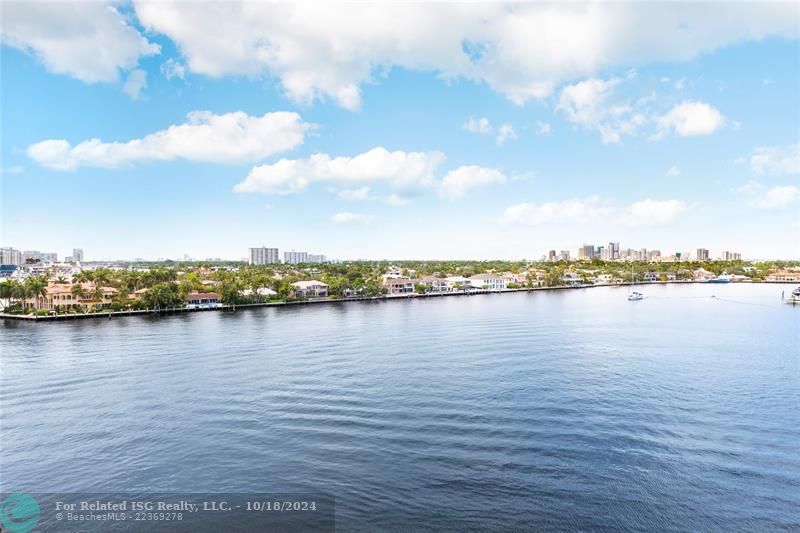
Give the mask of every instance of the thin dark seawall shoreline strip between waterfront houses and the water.
[{"label": "thin dark seawall shoreline strip between waterfront houses and the water", "polygon": [[[758,285],[793,285],[796,282],[789,281],[769,281],[760,282]],[[173,307],[165,309],[139,309],[128,311],[106,311],[102,313],[74,313],[65,315],[15,315],[9,313],[0,313],[2,320],[22,320],[30,322],[54,322],[60,320],[81,320],[81,319],[106,319],[111,320],[115,317],[126,316],[146,316],[146,315],[174,315],[178,313],[206,313],[212,311],[231,311],[235,312],[237,309],[253,309],[259,307],[284,307],[294,305],[315,305],[315,304],[333,304],[333,303],[347,303],[347,302],[383,302],[391,300],[412,300],[418,298],[446,298],[455,296],[480,296],[484,294],[508,294],[517,292],[535,292],[535,291],[564,291],[564,290],[578,290],[578,289],[595,289],[599,287],[632,287],[632,286],[648,286],[648,285],[706,285],[708,282],[703,281],[647,281],[636,283],[622,283],[619,285],[578,285],[578,286],[561,286],[561,287],[523,287],[519,289],[505,289],[505,290],[473,290],[469,292],[440,292],[428,294],[397,294],[393,296],[371,296],[371,297],[354,297],[354,298],[319,298],[311,300],[300,300],[294,302],[260,302],[250,304],[219,304],[218,307],[206,308],[189,308],[189,307]],[[726,284],[727,285],[727,284]]]}]

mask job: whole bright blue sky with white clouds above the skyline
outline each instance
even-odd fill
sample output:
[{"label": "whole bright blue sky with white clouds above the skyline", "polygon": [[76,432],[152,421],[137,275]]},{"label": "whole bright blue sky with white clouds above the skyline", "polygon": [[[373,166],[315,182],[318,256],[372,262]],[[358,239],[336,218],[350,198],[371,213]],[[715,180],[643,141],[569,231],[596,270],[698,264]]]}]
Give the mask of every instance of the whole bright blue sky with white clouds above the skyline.
[{"label": "whole bright blue sky with white clouds above the skyline", "polygon": [[0,4],[0,244],[800,257],[800,4]]}]

